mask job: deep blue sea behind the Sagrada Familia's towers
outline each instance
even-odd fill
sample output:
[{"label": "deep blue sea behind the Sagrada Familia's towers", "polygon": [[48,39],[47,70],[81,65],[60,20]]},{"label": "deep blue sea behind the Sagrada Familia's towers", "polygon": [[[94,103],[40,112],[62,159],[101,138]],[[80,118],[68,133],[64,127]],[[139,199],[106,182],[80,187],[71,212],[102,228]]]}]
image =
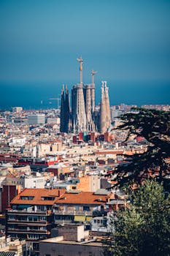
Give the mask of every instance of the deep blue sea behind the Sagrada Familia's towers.
[{"label": "deep blue sea behind the Sagrada Familia's towers", "polygon": [[[74,84],[67,82],[70,95]],[[62,81],[0,82],[0,110],[58,108],[62,85]],[[110,105],[170,105],[170,80],[110,80],[107,86]],[[101,81],[96,81],[96,105],[100,97]]]}]

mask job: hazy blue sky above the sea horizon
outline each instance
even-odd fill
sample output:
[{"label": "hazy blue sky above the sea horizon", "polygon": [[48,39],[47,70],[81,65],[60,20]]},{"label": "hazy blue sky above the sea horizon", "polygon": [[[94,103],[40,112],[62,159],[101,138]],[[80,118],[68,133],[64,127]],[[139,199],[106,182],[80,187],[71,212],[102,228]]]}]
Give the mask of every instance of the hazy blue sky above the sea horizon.
[{"label": "hazy blue sky above the sea horizon", "polygon": [[170,1],[0,1],[0,82],[170,80]]}]

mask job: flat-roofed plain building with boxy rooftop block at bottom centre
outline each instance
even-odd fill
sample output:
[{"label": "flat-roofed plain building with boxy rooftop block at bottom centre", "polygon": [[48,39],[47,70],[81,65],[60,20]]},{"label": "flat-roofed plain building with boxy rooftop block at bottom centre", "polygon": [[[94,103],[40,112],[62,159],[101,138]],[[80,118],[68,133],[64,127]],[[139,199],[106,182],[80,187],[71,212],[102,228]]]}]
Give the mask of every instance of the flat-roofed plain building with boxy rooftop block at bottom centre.
[{"label": "flat-roofed plain building with boxy rooftop block at bottom centre", "polygon": [[39,242],[39,255],[101,256],[104,244],[89,235],[83,225],[58,227],[58,236]]}]

